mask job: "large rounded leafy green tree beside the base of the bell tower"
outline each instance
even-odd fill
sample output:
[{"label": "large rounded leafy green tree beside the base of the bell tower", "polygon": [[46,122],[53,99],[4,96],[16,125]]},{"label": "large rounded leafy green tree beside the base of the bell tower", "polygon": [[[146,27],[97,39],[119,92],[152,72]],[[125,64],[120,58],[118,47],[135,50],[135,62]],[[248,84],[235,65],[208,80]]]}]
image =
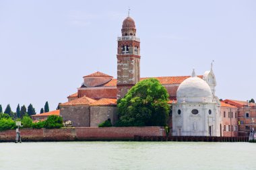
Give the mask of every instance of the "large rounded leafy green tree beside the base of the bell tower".
[{"label": "large rounded leafy green tree beside the base of the bell tower", "polygon": [[117,101],[116,126],[166,126],[170,106],[168,92],[157,79],[145,79]]}]

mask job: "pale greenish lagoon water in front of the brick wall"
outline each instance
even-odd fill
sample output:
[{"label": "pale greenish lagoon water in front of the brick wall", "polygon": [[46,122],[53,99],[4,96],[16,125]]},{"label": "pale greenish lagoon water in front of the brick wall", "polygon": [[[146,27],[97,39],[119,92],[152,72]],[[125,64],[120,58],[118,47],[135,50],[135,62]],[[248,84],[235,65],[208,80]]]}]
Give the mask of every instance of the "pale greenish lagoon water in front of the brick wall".
[{"label": "pale greenish lagoon water in front of the brick wall", "polygon": [[0,143],[0,169],[256,169],[248,142]]}]

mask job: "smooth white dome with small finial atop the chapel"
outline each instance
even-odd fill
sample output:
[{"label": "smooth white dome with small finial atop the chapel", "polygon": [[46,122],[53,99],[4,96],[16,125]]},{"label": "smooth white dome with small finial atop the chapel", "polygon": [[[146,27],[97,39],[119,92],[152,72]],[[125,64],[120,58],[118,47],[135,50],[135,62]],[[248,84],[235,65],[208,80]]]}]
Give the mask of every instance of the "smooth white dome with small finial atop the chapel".
[{"label": "smooth white dome with small finial atop the chapel", "polygon": [[177,90],[177,101],[181,103],[212,102],[212,90],[210,86],[193,72],[192,77],[185,79]]}]

